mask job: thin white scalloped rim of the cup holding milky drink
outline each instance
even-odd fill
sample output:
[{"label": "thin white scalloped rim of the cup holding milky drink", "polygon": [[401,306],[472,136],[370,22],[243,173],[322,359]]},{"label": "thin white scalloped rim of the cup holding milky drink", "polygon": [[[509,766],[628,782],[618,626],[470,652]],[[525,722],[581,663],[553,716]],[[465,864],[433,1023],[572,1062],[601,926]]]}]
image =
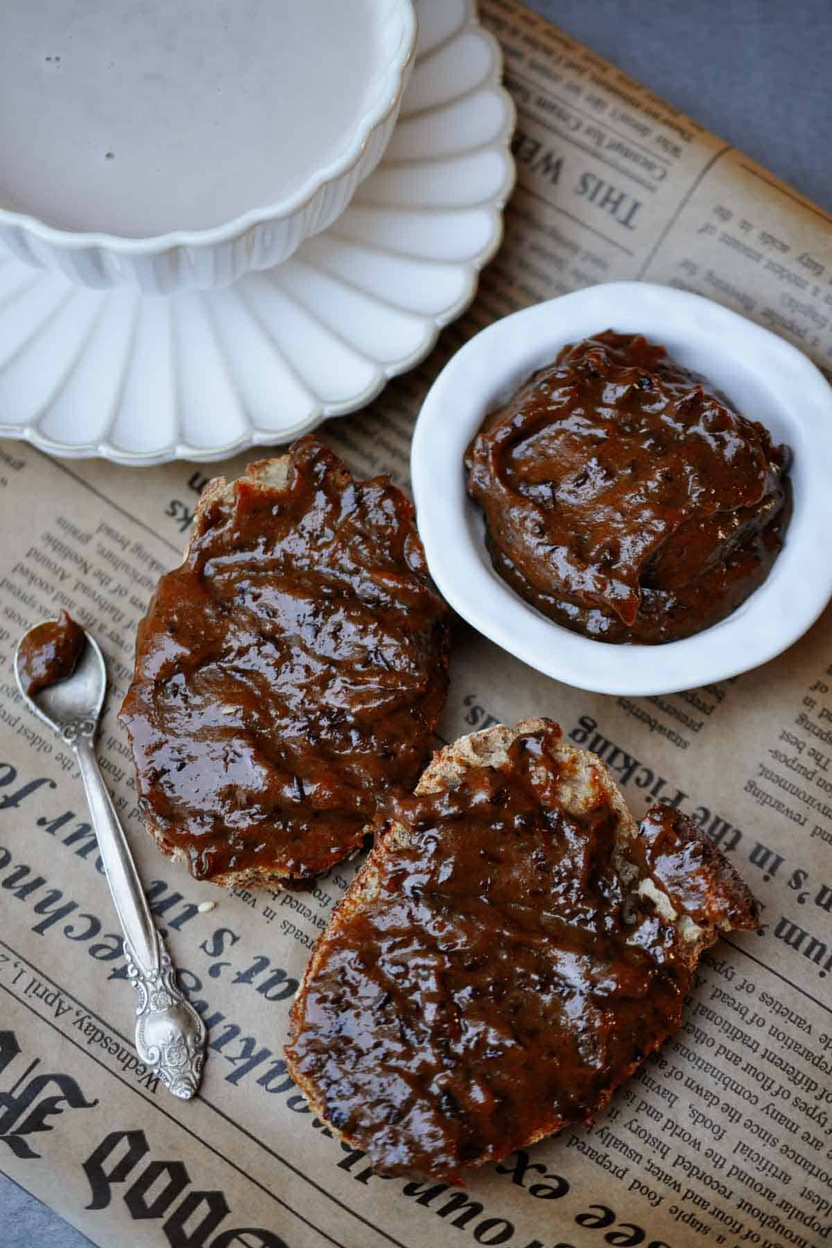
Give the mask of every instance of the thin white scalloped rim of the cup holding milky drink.
[{"label": "thin white scalloped rim of the cup holding milky drink", "polygon": [[379,126],[398,109],[407,86],[408,69],[415,56],[419,25],[413,0],[385,0],[392,15],[399,19],[399,40],[378,75],[373,99],[362,114],[356,130],[343,150],[328,165],[316,170],[297,191],[269,205],[248,208],[231,221],[203,230],[170,230],[147,238],[109,233],[106,230],[66,230],[51,226],[31,212],[17,212],[0,205],[0,227],[16,228],[40,242],[64,251],[99,247],[121,256],[156,256],[175,247],[215,247],[231,242],[248,230],[269,221],[282,221],[301,212],[329,183],[337,182],[360,160],[367,142]]}]

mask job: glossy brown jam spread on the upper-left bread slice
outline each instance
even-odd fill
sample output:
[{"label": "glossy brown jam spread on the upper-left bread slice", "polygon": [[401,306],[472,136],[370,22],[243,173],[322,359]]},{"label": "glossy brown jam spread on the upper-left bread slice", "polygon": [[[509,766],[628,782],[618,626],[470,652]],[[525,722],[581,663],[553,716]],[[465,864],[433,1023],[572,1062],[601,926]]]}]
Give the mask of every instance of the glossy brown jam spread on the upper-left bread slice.
[{"label": "glossy brown jam spread on the upper-left bread slice", "polygon": [[151,830],[198,879],[327,870],[414,784],[447,666],[412,503],[301,438],[284,485],[205,504],[138,626],[122,720]]}]

